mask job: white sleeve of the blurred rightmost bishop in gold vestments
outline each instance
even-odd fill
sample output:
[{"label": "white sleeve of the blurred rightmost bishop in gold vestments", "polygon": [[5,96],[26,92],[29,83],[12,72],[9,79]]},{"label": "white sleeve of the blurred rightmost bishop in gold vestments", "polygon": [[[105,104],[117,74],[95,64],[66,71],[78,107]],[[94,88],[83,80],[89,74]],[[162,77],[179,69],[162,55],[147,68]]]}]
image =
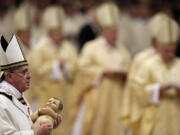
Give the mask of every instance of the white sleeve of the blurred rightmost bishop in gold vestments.
[{"label": "white sleeve of the blurred rightmost bishop in gold vestments", "polygon": [[153,89],[153,93],[152,93],[152,97],[150,99],[150,103],[151,104],[159,104],[159,96],[160,96],[160,84],[155,84],[154,85],[154,89]]}]

